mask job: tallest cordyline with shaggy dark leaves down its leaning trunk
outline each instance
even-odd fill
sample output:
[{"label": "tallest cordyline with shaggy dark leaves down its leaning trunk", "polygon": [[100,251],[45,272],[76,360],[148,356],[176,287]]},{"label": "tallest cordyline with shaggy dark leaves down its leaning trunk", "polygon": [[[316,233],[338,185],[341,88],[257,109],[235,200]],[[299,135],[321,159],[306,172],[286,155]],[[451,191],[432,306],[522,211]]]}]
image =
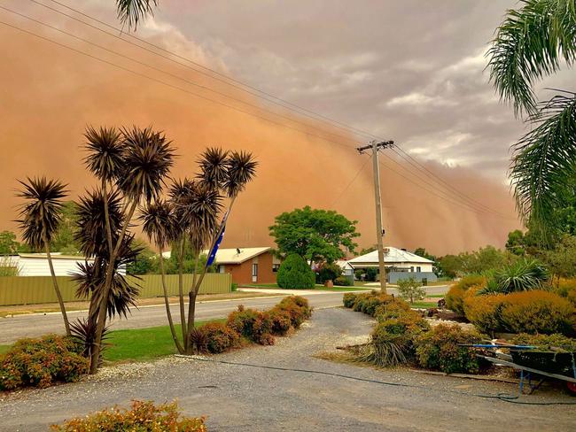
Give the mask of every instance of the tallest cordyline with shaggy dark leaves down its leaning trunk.
[{"label": "tallest cordyline with shaggy dark leaves down its leaning trunk", "polygon": [[[131,246],[134,236],[128,233],[128,227],[138,206],[160,198],[174,163],[174,149],[166,136],[152,127],[121,128],[120,131],[114,127],[89,127],[86,139],[88,156],[85,163],[100,181],[100,189],[85,203],[90,207],[91,215],[99,214],[93,224],[90,221],[86,224],[82,235],[88,243],[83,251],[97,251],[99,257],[92,267],[97,282],[89,283],[99,297],[91,311],[96,326],[90,352],[90,373],[93,374],[100,357],[111,292],[122,286],[118,280],[118,267],[137,254]],[[101,217],[104,217],[104,223],[99,221]]]}]

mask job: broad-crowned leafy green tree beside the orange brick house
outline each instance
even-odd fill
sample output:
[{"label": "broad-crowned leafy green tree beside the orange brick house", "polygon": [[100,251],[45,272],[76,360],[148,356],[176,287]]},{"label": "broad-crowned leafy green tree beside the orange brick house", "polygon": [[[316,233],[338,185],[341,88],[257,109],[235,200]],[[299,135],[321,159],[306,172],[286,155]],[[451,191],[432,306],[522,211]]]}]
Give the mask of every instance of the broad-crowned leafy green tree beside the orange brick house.
[{"label": "broad-crowned leafy green tree beside the orange brick house", "polygon": [[344,257],[344,249],[354,253],[357,246],[354,238],[360,235],[356,223],[357,220],[347,220],[333,210],[312,209],[307,205],[276,216],[269,230],[280,253],[296,253],[305,260],[331,263]]}]

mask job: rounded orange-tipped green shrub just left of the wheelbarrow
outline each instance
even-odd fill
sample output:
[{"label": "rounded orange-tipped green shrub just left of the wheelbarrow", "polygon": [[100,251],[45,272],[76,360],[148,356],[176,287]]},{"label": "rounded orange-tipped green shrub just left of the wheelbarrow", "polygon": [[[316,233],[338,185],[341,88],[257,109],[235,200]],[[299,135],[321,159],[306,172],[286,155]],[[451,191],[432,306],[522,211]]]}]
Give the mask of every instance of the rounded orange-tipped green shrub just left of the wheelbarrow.
[{"label": "rounded orange-tipped green shrub just left of the wheelbarrow", "polygon": [[478,333],[463,330],[457,325],[440,324],[416,336],[416,359],[422,367],[447,374],[476,373],[479,363],[469,348],[458,343],[479,343]]}]

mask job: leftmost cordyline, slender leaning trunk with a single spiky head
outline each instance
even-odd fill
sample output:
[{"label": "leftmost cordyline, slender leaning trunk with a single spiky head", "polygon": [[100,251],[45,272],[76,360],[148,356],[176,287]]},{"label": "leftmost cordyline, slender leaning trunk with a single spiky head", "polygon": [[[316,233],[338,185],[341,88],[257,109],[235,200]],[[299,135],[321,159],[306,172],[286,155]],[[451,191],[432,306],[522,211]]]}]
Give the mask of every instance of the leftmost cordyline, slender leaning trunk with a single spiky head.
[{"label": "leftmost cordyline, slender leaning trunk with a single spiky head", "polygon": [[47,180],[46,177],[28,178],[27,181],[19,181],[23,189],[19,191],[18,197],[23,198],[26,204],[20,207],[19,228],[22,230],[22,238],[36,251],[45,251],[50,266],[50,274],[66,335],[70,336],[70,323],[66,315],[66,306],[62,299],[62,293],[58,288],[58,280],[54,273],[52,257],[50,252],[50,242],[61,220],[63,199],[66,197],[66,185],[56,180]]}]

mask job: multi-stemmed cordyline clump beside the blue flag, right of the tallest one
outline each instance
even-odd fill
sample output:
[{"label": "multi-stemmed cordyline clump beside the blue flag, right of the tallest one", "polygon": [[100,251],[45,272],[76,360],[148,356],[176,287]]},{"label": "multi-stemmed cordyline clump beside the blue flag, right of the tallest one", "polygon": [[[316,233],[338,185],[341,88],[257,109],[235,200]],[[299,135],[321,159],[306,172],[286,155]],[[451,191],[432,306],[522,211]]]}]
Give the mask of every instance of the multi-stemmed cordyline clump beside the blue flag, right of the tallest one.
[{"label": "multi-stemmed cordyline clump beside the blue flag, right of the tallest one", "polygon": [[[142,209],[144,233],[160,250],[160,273],[168,324],[176,349],[192,353],[191,336],[194,330],[196,298],[210,264],[198,268],[203,251],[214,251],[222,240],[226,220],[238,194],[253,180],[257,163],[250,153],[211,148],[198,160],[199,173],[194,180],[176,180],[168,189],[167,200],[157,200]],[[228,198],[228,205],[224,201]],[[167,300],[162,251],[168,243],[176,246],[178,254],[178,294],[182,342],[174,326]],[[195,271],[188,292],[188,313],[184,308],[183,251],[188,243],[195,258]]]}]

